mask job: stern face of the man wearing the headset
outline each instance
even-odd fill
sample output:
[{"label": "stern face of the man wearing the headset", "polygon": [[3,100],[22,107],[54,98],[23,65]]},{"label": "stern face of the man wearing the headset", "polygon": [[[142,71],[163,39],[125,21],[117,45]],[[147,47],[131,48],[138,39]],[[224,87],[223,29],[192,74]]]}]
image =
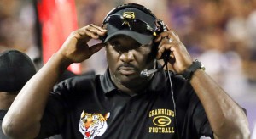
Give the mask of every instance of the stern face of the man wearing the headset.
[{"label": "stern face of the man wearing the headset", "polygon": [[148,80],[140,73],[154,68],[151,43],[141,45],[129,36],[115,36],[107,42],[107,61],[115,83],[134,87]]}]

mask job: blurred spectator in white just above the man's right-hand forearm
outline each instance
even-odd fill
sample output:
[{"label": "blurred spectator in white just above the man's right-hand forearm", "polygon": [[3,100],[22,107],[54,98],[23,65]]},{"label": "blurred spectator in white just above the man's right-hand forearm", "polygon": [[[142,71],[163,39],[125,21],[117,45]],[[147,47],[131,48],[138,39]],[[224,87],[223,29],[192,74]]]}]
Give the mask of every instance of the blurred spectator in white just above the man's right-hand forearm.
[{"label": "blurred spectator in white just above the man's right-hand forearm", "polygon": [[[203,53],[197,56],[204,63],[207,73],[223,86],[233,98],[242,97],[248,88],[247,78],[242,70],[242,60],[226,40],[222,30],[204,31],[201,35]],[[239,87],[236,87],[239,85]]]}]

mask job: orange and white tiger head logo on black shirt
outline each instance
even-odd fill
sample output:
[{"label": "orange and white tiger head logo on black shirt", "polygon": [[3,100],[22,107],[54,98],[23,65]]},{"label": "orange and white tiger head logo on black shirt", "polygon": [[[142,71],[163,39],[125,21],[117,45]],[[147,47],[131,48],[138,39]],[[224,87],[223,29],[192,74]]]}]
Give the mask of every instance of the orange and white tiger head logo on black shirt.
[{"label": "orange and white tiger head logo on black shirt", "polygon": [[109,116],[110,113],[102,116],[102,114],[89,114],[83,111],[79,122],[79,131],[83,134],[84,139],[102,136],[108,128],[107,120]]}]

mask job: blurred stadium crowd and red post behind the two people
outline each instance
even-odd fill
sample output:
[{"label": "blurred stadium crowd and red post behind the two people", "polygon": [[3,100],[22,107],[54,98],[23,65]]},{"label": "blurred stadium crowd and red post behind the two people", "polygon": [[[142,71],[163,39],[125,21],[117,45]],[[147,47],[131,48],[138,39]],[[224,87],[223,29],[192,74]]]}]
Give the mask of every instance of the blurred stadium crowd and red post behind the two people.
[{"label": "blurred stadium crowd and red post behind the two people", "polygon": [[[20,50],[40,69],[71,31],[91,23],[102,25],[108,11],[123,3],[143,4],[176,31],[191,56],[200,59],[207,73],[247,109],[253,133],[256,0],[1,0],[0,53]],[[102,49],[69,69],[75,74],[102,74],[106,65]]]}]

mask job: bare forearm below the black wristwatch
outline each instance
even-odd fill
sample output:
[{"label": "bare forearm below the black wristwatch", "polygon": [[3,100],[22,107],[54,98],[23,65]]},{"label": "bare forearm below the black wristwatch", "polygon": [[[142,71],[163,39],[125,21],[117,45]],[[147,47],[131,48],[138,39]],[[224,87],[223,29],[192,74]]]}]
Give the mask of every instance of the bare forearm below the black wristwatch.
[{"label": "bare forearm below the black wristwatch", "polygon": [[232,98],[202,69],[190,81],[216,138],[249,138],[247,117]]}]

